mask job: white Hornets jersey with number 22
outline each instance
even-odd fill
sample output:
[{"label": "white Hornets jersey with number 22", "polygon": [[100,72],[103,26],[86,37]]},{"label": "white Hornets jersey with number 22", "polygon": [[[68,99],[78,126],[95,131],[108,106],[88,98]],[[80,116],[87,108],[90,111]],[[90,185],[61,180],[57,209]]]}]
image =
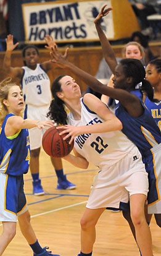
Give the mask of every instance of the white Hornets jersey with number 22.
[{"label": "white Hornets jersey with number 22", "polygon": [[[81,98],[81,119],[76,121],[72,113],[68,113],[67,123],[72,126],[88,126],[104,122],[101,117],[91,111]],[[120,161],[136,147],[120,130],[97,134],[81,134],[75,137],[76,151],[89,162],[103,170],[107,166]],[[138,151],[138,155],[140,155]],[[134,156],[131,156],[134,157]],[[137,158],[137,156],[135,156]]]}]

